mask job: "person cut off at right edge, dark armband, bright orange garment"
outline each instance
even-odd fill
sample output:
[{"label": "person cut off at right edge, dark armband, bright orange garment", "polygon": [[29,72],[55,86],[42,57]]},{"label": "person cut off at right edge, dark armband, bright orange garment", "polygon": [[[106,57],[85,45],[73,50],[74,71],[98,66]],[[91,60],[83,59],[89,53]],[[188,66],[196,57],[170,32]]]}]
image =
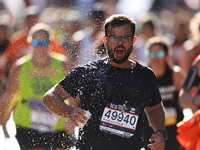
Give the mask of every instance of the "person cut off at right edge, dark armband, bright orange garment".
[{"label": "person cut off at right edge, dark armband, bright orange garment", "polygon": [[199,78],[200,77],[200,55],[198,55],[188,69],[188,74],[182,84],[179,93],[179,104],[182,108],[189,108],[194,113],[188,120],[181,121],[177,124],[177,139],[186,150],[198,150],[199,141]]}]

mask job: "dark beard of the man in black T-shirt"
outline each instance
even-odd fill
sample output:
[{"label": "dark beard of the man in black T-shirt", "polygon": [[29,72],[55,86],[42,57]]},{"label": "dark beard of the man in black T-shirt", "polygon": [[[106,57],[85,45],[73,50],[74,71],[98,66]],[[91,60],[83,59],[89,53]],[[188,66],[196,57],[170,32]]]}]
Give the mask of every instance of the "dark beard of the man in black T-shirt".
[{"label": "dark beard of the man in black T-shirt", "polygon": [[[114,57],[114,52],[117,48],[123,48],[124,49],[125,55],[122,58],[117,59],[117,58]],[[125,62],[128,59],[128,57],[130,56],[130,54],[133,50],[133,45],[131,45],[128,49],[126,49],[124,46],[117,46],[117,47],[114,48],[114,50],[107,45],[106,49],[107,49],[109,59],[112,60],[115,63],[121,64],[121,63]]]}]

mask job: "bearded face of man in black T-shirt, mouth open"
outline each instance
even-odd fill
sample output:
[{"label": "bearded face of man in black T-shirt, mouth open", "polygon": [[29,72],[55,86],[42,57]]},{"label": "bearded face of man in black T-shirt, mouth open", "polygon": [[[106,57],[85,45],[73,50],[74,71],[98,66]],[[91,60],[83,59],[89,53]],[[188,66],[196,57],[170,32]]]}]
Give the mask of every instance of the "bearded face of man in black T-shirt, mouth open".
[{"label": "bearded face of man in black T-shirt, mouth open", "polygon": [[115,63],[123,63],[130,56],[133,49],[131,25],[125,24],[111,29],[107,37],[107,53]]}]

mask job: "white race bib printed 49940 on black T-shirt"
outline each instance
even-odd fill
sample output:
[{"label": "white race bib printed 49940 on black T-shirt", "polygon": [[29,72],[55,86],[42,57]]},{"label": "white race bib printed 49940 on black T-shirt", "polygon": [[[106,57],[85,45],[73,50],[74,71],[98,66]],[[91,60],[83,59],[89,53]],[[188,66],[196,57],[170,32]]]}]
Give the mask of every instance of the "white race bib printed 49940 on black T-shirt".
[{"label": "white race bib printed 49940 on black T-shirt", "polygon": [[130,138],[135,133],[138,118],[137,108],[109,103],[104,108],[99,129],[108,134]]}]

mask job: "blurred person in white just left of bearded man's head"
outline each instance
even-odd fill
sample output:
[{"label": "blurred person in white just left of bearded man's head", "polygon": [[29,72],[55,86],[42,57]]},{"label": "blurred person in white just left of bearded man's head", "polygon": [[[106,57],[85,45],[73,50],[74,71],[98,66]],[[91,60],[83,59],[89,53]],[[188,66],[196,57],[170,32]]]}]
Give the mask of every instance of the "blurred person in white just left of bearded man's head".
[{"label": "blurred person in white just left of bearded man's head", "polygon": [[86,22],[87,27],[75,33],[75,36],[81,35],[83,37],[80,41],[78,65],[84,65],[98,59],[97,52],[94,48],[102,42],[102,26],[105,17],[104,4],[95,3],[88,16],[89,21]]}]

